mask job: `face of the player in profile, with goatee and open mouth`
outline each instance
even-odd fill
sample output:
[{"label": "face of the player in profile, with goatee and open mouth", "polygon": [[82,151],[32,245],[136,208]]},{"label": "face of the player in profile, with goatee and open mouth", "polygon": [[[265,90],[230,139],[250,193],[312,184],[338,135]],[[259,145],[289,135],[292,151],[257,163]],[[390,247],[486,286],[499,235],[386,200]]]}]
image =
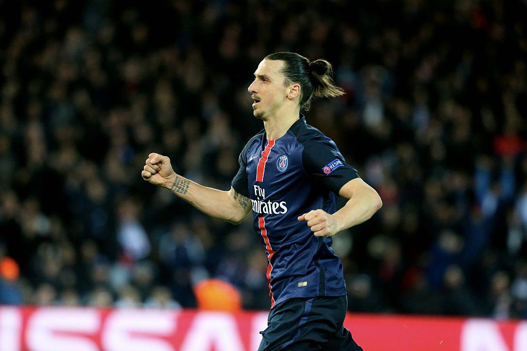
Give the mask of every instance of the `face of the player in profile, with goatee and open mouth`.
[{"label": "face of the player in profile, with goatee and open mouth", "polygon": [[253,99],[252,111],[256,118],[266,119],[273,115],[287,99],[285,77],[281,73],[284,61],[264,59],[255,72],[255,80],[247,91]]}]

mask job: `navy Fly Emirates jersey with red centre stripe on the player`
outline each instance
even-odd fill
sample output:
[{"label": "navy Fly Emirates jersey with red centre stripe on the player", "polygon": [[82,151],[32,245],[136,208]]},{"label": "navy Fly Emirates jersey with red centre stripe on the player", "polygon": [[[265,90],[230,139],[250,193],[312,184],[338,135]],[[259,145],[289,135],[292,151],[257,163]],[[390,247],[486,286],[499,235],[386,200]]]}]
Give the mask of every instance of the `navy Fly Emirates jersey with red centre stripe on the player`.
[{"label": "navy Fly Emirates jersey with red centre stripe on the player", "polygon": [[340,188],[357,178],[335,143],[306,124],[267,140],[265,131],[243,148],[232,187],[251,199],[253,225],[269,265],[271,308],[291,297],[346,295],[343,267],[329,237],[316,237],[298,216],[313,209],[335,212]]}]

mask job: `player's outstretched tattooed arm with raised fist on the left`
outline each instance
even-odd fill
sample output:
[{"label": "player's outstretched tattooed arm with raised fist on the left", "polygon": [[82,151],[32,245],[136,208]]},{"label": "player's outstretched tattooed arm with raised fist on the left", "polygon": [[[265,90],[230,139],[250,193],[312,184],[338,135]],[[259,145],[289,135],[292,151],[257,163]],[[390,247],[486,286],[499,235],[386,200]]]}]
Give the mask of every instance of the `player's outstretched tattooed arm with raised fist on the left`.
[{"label": "player's outstretched tattooed arm with raised fist on the left", "polygon": [[149,183],[169,189],[204,214],[232,224],[240,224],[252,209],[251,200],[232,187],[228,192],[213,189],[176,174],[167,156],[150,154],[141,176]]}]

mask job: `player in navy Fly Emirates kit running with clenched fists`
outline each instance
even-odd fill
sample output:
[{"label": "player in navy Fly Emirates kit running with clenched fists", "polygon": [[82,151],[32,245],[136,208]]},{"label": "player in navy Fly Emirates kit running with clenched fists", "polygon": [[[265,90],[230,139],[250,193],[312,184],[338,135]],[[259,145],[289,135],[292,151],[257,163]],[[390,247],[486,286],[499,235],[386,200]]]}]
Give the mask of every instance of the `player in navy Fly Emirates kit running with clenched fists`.
[{"label": "player in navy Fly Emirates kit running with clenched fists", "polygon": [[[382,202],[346,164],[335,143],[300,114],[314,97],[343,91],[335,86],[327,61],[295,53],[266,56],[254,76],[248,91],[253,114],[265,128],[241,151],[240,169],[228,192],[174,173],[170,159],[155,153],[141,175],[233,224],[252,209],[269,262],[271,297],[259,351],[362,350],[343,327],[346,285],[331,236],[363,223]],[[336,195],[348,199],[337,212]]]}]

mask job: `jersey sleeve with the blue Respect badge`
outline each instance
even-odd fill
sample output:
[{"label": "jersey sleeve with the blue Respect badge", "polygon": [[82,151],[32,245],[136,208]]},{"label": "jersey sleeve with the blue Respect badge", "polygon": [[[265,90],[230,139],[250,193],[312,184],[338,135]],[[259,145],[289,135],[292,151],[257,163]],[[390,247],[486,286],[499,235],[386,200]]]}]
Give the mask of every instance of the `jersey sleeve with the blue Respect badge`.
[{"label": "jersey sleeve with the blue Respect badge", "polygon": [[358,178],[357,170],[346,163],[331,139],[313,139],[303,143],[302,165],[307,175],[338,195],[340,188]]}]

